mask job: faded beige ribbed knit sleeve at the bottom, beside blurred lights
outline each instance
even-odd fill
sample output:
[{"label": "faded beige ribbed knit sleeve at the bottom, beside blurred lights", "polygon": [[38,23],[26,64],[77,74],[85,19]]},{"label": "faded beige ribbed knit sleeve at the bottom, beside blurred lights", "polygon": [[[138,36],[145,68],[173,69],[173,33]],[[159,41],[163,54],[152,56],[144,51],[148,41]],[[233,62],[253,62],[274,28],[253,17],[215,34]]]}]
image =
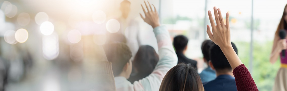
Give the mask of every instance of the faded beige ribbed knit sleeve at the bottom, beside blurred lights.
[{"label": "faded beige ribbed knit sleeve at the bottom, beside blurred lights", "polygon": [[97,77],[99,77],[96,83],[102,91],[116,91],[115,78],[112,70],[112,63],[107,61],[98,62]]}]

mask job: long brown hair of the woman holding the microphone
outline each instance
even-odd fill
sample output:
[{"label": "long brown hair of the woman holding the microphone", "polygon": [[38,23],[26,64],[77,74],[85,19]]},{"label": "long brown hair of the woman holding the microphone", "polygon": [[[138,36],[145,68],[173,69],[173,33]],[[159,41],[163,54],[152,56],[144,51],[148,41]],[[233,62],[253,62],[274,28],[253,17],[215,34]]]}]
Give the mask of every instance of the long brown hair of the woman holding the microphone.
[{"label": "long brown hair of the woman holding the microphone", "polygon": [[280,23],[279,23],[279,25],[277,27],[277,30],[276,30],[276,33],[275,33],[276,36],[278,35],[280,29],[287,29],[287,23],[286,23],[286,21],[284,19],[284,17],[287,15],[287,13],[285,12],[286,7],[287,7],[287,4],[284,7],[282,18],[281,18]]}]

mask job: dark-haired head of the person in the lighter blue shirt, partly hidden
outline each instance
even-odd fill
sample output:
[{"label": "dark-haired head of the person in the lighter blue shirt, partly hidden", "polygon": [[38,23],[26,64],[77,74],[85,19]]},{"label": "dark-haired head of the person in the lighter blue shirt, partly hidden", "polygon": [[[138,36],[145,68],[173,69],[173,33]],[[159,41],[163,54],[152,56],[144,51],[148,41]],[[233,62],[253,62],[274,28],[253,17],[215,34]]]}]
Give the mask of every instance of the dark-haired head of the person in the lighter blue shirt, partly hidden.
[{"label": "dark-haired head of the person in the lighter blue shirt, partly hidden", "polygon": [[210,61],[209,50],[215,43],[211,40],[205,40],[201,44],[201,52],[203,54],[203,58],[208,62]]}]

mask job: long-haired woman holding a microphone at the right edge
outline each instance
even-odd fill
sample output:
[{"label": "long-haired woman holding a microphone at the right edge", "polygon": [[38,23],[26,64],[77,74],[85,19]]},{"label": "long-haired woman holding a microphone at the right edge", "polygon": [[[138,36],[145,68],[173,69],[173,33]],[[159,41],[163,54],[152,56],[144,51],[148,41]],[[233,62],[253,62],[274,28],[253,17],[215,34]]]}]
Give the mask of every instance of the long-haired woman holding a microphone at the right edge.
[{"label": "long-haired woman holding a microphone at the right edge", "polygon": [[[287,4],[285,5],[284,11],[282,18],[280,20],[280,23],[277,27],[274,41],[273,41],[273,47],[272,47],[272,52],[269,61],[274,64],[278,56],[282,55],[281,52],[282,50],[286,50],[287,44],[286,44],[286,38],[285,39],[280,39],[279,37],[279,31],[281,29],[286,30],[287,29]],[[285,51],[285,54],[287,52]],[[287,58],[283,58],[280,56],[281,60],[281,68],[278,70],[276,79],[275,79],[275,84],[273,87],[273,91],[286,91],[287,90]]]}]

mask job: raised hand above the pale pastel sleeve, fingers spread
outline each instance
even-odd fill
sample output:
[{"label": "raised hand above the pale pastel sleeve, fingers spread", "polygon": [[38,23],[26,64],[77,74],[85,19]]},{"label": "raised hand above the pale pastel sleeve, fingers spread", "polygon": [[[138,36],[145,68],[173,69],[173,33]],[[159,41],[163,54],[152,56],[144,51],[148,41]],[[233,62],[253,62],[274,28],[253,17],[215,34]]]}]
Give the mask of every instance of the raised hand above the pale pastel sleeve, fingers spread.
[{"label": "raised hand above the pale pastel sleeve, fingers spread", "polygon": [[[146,5],[146,1],[144,1],[144,3]],[[144,19],[144,21],[146,23],[151,25],[152,28],[160,26],[160,20],[159,20],[159,17],[158,17],[158,12],[156,11],[156,7],[154,7],[154,11],[153,11],[152,10],[152,6],[150,5],[150,2],[148,2],[148,4],[150,6],[150,9],[149,9],[148,5],[146,5],[146,9],[148,10],[148,12],[146,12],[146,10],[144,9],[143,5],[141,4],[141,7],[143,8],[144,14],[146,16],[146,18],[144,18],[143,15],[141,15],[141,13],[139,13],[141,15],[141,18]]]}]

